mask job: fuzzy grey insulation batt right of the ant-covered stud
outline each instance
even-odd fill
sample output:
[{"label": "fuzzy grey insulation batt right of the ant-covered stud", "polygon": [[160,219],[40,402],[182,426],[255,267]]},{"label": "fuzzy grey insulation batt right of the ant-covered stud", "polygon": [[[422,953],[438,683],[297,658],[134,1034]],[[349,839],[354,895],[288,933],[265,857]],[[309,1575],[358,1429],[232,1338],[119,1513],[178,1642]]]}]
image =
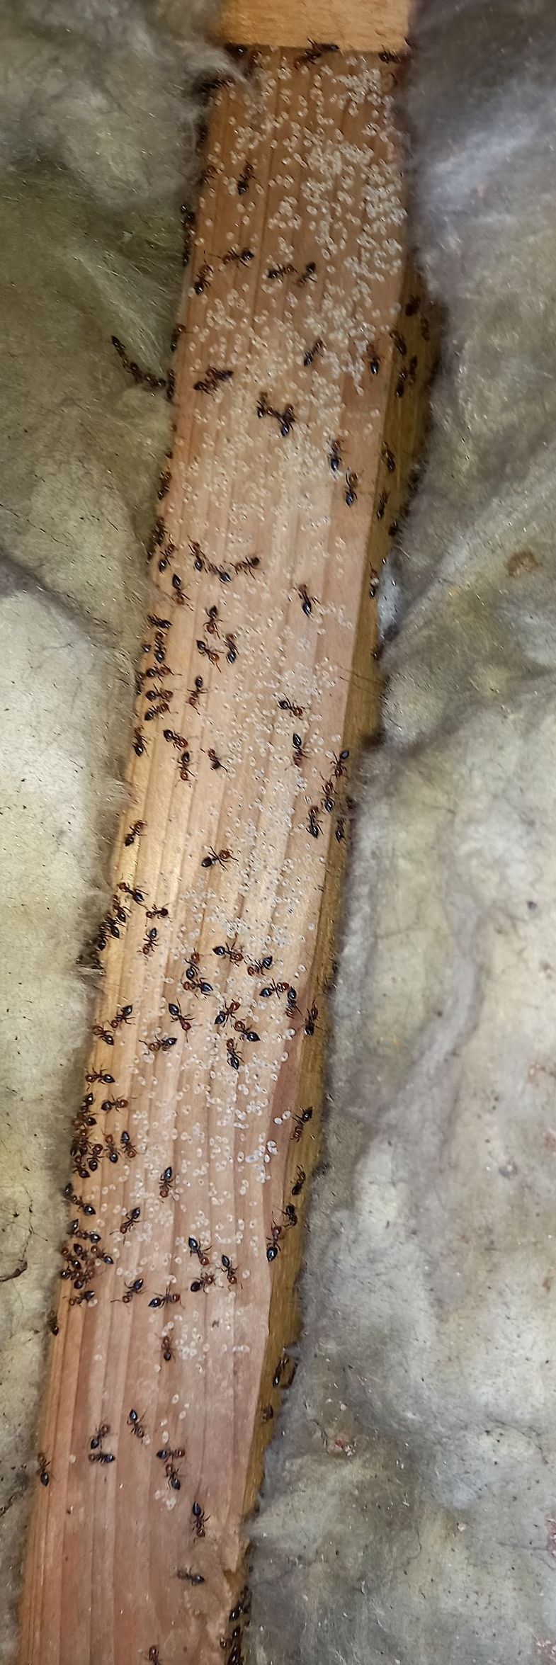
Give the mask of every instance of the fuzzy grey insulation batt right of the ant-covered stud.
[{"label": "fuzzy grey insulation batt right of the ant-covered stud", "polygon": [[418,10],[444,351],[381,596],[256,1665],[556,1662],[554,88],[551,0]]}]

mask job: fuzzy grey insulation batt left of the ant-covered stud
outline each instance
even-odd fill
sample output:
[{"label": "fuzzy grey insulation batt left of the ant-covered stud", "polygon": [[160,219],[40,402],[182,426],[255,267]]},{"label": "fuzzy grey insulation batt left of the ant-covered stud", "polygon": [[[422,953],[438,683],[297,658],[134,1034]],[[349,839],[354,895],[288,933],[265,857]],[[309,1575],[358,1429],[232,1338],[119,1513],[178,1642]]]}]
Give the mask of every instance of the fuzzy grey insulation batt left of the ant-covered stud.
[{"label": "fuzzy grey insulation batt left of the ant-covered stud", "polygon": [[[0,1657],[123,801],[211,0],[0,3]],[[78,969],[78,961],[83,969]]]}]

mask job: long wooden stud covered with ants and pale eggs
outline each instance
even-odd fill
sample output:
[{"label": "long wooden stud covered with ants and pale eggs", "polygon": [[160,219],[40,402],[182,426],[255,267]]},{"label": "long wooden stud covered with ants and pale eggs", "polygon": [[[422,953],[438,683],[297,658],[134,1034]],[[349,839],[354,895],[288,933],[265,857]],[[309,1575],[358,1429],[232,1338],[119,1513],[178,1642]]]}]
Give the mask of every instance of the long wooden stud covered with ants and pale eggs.
[{"label": "long wooden stud covered with ants and pale eggs", "polygon": [[[145,633],[140,754],[132,754],[100,949],[97,1022],[115,1044],[98,1037],[87,1069],[113,1084],[85,1084],[90,1139],[103,1154],[88,1179],[73,1175],[97,1212],[70,1207],[80,1230],[100,1232],[113,1264],[98,1262],[87,1280],[92,1302],[60,1284],[40,1430],[50,1484],[37,1482],[20,1665],[238,1665],[243,1657],[233,1632],[248,1603],[228,1615],[245,1585],[245,1517],[263,1449],[291,1380],[336,906],[358,749],[378,713],[376,573],[431,363],[423,305],[411,301],[405,315],[390,85],[376,62],[295,67],[293,53],[265,53],[256,78],[223,90],[213,108],[175,353],[163,541],[150,568],[151,616],[170,628]],[[253,175],[240,193],[246,165]],[[225,261],[233,250],[251,250],[253,260]],[[315,275],[300,283],[313,261]],[[295,271],[268,278],[276,265]],[[305,365],[316,340],[323,351]],[[233,376],[215,383],[208,366]],[[196,381],[215,391],[195,391]],[[258,416],[263,393],[278,411],[293,405],[286,435],[275,416]],[[351,504],[348,470],[358,476]],[[313,598],[305,611],[303,586]],[[150,719],[156,688],[168,691],[168,711]],[[301,714],[281,709],[283,699]],[[180,749],[165,729],[181,736]],[[130,842],[135,823],[143,828]],[[203,866],[211,847],[230,859]],[[166,912],[153,921],[153,907]],[[151,947],[148,931],[156,931]],[[226,944],[236,962],[215,954]],[[270,956],[271,966],[250,976]],[[273,981],[286,987],[263,997]],[[110,1031],[125,1006],[128,1021]],[[191,1029],[171,1016],[176,1006]],[[246,1041],[236,1022],[260,1039]],[[166,1051],[148,1051],[166,1037],[175,1042]],[[125,1102],[105,1112],[110,1097]],[[137,1151],[130,1159],[122,1134]],[[298,1167],[306,1182],[293,1195]],[[133,1207],[140,1215],[122,1230]],[[280,1252],[270,1262],[273,1229]],[[206,1249],[206,1269],[190,1237]],[[215,1282],[193,1292],[203,1270]],[[143,1287],[123,1300],[137,1279]],[[166,1287],[180,1299],[151,1309]],[[92,1449],[102,1424],[110,1432]],[[173,1460],[178,1489],[156,1455],[165,1449],[185,1452]],[[90,1462],[98,1452],[115,1460]],[[205,1537],[193,1503],[205,1510]]]}]

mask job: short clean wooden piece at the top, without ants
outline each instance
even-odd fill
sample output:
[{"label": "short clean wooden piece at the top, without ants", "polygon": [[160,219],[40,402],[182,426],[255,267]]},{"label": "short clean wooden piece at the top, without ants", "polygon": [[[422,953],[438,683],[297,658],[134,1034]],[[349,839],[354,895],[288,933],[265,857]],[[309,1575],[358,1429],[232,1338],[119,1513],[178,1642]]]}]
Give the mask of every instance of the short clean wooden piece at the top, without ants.
[{"label": "short clean wooden piece at the top, without ants", "polygon": [[306,47],[330,40],[341,52],[408,50],[410,0],[225,0],[223,40],[246,47]]}]

